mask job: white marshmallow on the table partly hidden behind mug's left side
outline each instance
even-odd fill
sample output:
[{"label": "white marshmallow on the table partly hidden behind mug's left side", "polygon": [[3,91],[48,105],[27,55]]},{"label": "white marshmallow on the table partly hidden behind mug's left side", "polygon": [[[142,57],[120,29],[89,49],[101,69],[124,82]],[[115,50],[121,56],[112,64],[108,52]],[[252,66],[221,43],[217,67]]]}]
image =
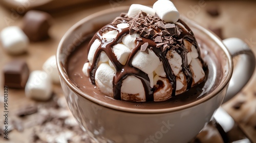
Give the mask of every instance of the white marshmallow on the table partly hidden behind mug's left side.
[{"label": "white marshmallow on the table partly hidden behind mug's left side", "polygon": [[55,55],[46,60],[44,65],[42,65],[42,69],[50,76],[53,83],[60,83]]}]

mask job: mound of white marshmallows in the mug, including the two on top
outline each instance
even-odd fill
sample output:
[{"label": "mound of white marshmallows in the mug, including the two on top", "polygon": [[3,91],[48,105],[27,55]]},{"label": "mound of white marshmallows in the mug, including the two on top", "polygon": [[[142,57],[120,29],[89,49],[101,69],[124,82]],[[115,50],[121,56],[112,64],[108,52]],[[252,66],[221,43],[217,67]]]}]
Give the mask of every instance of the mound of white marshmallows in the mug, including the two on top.
[{"label": "mound of white marshmallows in the mug, including the two on top", "polygon": [[[174,4],[168,0],[159,0],[154,5],[153,8],[146,7],[143,5],[133,4],[131,5],[129,12],[127,13],[127,17],[133,17],[140,12],[145,12],[146,14],[155,15],[157,14],[163,21],[165,22],[177,22],[179,19],[179,12],[174,6]],[[117,28],[124,29],[129,27],[128,23],[119,23]],[[103,33],[101,41],[111,41],[113,38],[116,38],[118,34],[117,30],[112,30],[107,33]],[[136,46],[136,38],[141,37],[139,34],[134,33],[132,35],[127,34],[123,36],[122,42],[117,43],[112,47],[117,60],[121,64],[125,64],[127,58],[131,54],[132,50]],[[85,63],[83,66],[83,73],[87,77],[89,77],[88,67],[93,63],[94,54],[98,47],[101,45],[101,41],[96,39],[90,47],[90,51],[88,54],[89,62]],[[204,70],[202,69],[202,63],[198,59],[199,54],[196,50],[195,46],[189,42],[184,40],[184,43],[191,52],[187,54],[188,64],[190,64],[190,69],[193,70],[193,80],[194,85],[197,84],[199,81],[204,79],[205,74]],[[169,55],[169,56],[168,56]],[[166,56],[170,67],[173,70],[175,76],[179,77],[176,78],[176,94],[180,94],[186,91],[186,79],[184,73],[181,71],[182,69],[182,57],[175,51],[170,50]],[[152,51],[148,50],[148,53],[138,51],[133,58],[132,65],[134,67],[139,68],[140,70],[144,71],[148,75],[150,79],[150,86],[151,88],[157,84],[157,81],[162,81],[164,87],[154,92],[154,101],[164,101],[170,98],[170,82],[166,78],[166,74],[164,71],[163,63],[159,60],[158,56]],[[95,81],[97,88],[103,92],[104,94],[108,95],[109,97],[113,98],[113,76],[115,75],[115,67],[112,64],[112,61],[109,60],[106,53],[101,52],[99,64],[95,74]],[[193,85],[192,85],[193,86]],[[167,94],[166,94],[167,93]],[[136,100],[133,100],[131,97],[127,98],[124,95],[133,95],[137,96]],[[140,100],[138,100],[140,99]],[[126,79],[122,81],[121,86],[121,100],[126,101],[133,101],[133,102],[145,102],[145,90],[142,85],[140,79],[136,78],[135,76],[128,76]]]}]

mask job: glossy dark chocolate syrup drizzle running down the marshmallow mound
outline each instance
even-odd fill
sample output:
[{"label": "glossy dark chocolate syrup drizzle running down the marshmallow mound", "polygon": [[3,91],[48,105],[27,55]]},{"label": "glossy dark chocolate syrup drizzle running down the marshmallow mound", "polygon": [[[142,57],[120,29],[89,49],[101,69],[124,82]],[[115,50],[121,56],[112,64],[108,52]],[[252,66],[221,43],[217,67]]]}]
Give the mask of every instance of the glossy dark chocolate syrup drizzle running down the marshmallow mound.
[{"label": "glossy dark chocolate syrup drizzle running down the marshmallow mound", "polygon": [[[124,23],[127,23],[127,18],[119,17],[117,19],[118,20],[121,19]],[[182,39],[182,40],[180,40],[181,43],[177,44],[178,46],[175,45],[172,48],[162,51],[161,48],[156,47],[155,41],[153,41],[152,39],[149,39],[149,38],[142,37],[142,40],[137,42],[135,49],[132,50],[132,53],[130,54],[130,56],[128,57],[128,59],[124,65],[122,65],[117,60],[117,57],[113,53],[112,47],[115,44],[122,42],[122,37],[129,34],[129,32],[130,32],[129,27],[125,28],[125,29],[119,29],[116,27],[116,24],[114,24],[113,22],[110,23],[109,25],[104,26],[101,30],[99,30],[93,36],[92,40],[90,41],[90,43],[88,45],[90,48],[92,43],[96,39],[101,41],[100,46],[98,47],[98,49],[95,52],[93,63],[91,66],[88,67],[88,71],[90,73],[90,80],[91,80],[92,84],[95,85],[95,74],[96,74],[97,65],[98,65],[98,62],[100,59],[100,53],[105,52],[106,55],[109,57],[110,61],[112,61],[113,65],[116,69],[116,74],[113,77],[114,99],[121,100],[122,81],[124,79],[126,79],[128,76],[135,76],[138,79],[140,79],[143,84],[143,87],[145,90],[145,95],[146,95],[146,101],[154,101],[153,94],[154,94],[154,90],[156,90],[156,88],[150,87],[150,79],[148,78],[148,75],[146,73],[144,73],[142,70],[140,70],[132,65],[132,60],[133,60],[135,54],[140,50],[141,45],[144,44],[145,42],[148,42],[148,47],[150,47],[150,48],[148,48],[147,50],[153,50],[153,52],[159,57],[159,60],[162,61],[162,63],[163,63],[166,78],[169,80],[169,82],[172,85],[172,96],[176,95],[176,76],[174,75],[173,70],[169,65],[168,59],[166,58],[166,54],[169,50],[175,50],[177,53],[179,53],[181,55],[181,57],[182,57],[182,65],[181,66],[183,67],[182,72],[184,73],[185,78],[186,78],[187,89],[189,89],[193,82],[193,78],[192,78],[193,75],[191,74],[191,71],[190,71],[190,68],[188,65],[188,60],[187,60],[188,51],[187,51],[186,47],[184,46],[184,39],[186,39],[190,43],[192,43],[196,47],[198,52],[199,52],[199,49],[198,49],[198,44],[196,42],[196,39],[195,39],[193,33],[191,32],[191,30],[185,25],[185,23],[182,20],[179,20],[178,22],[180,22],[188,30],[188,32],[187,32],[186,30],[179,27],[180,29],[182,29],[182,32],[180,35],[174,37],[176,39]],[[104,40],[102,38],[102,34],[105,31],[111,31],[111,30],[118,31],[117,37],[111,41]],[[170,45],[170,46],[172,46],[172,45]],[[161,88],[161,87],[157,87],[157,88]]]}]

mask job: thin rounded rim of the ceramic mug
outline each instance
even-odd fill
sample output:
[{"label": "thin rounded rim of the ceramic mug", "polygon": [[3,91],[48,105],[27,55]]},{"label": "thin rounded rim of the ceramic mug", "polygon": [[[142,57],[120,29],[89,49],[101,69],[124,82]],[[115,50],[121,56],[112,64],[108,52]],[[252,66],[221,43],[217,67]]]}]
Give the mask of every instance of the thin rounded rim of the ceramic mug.
[{"label": "thin rounded rim of the ceramic mug", "polygon": [[66,85],[69,86],[69,88],[74,91],[75,93],[77,93],[79,96],[82,96],[83,98],[86,98],[88,100],[90,100],[91,102],[110,108],[110,109],[114,109],[114,110],[118,110],[118,111],[124,111],[124,112],[131,112],[131,113],[167,113],[167,112],[175,112],[175,111],[179,111],[179,110],[184,110],[187,108],[191,108],[194,107],[196,105],[199,105],[201,103],[204,103],[208,100],[210,100],[211,98],[215,97],[218,93],[220,93],[226,86],[228,86],[228,83],[231,79],[232,76],[232,71],[233,71],[233,62],[232,62],[232,57],[229,53],[229,51],[227,50],[226,46],[223,44],[223,42],[221,41],[221,39],[216,36],[214,33],[210,32],[209,30],[203,28],[202,26],[200,26],[198,23],[196,23],[193,20],[190,20],[186,17],[182,17],[181,19],[185,19],[186,23],[189,22],[190,25],[193,25],[194,27],[196,27],[197,29],[199,29],[200,31],[204,32],[206,35],[208,35],[213,41],[215,41],[217,43],[217,45],[219,45],[221,47],[221,49],[223,50],[223,52],[225,53],[226,57],[227,57],[227,61],[228,61],[228,73],[226,78],[224,79],[224,82],[222,82],[217,88],[216,90],[212,91],[210,94],[208,94],[207,96],[198,99],[197,101],[194,101],[192,103],[189,104],[185,104],[185,105],[181,105],[181,106],[177,106],[177,107],[170,107],[170,108],[164,108],[164,109],[134,109],[134,108],[126,108],[126,107],[120,107],[117,105],[113,105],[110,103],[106,103],[103,101],[100,101],[98,99],[92,98],[91,96],[88,96],[86,93],[82,92],[80,89],[78,89],[74,83],[72,83],[70,81],[70,79],[68,78],[68,75],[66,73],[66,69],[65,67],[62,65],[62,62],[60,60],[60,55],[61,55],[61,51],[62,51],[62,45],[63,42],[67,39],[67,37],[69,37],[69,35],[78,27],[80,27],[81,25],[83,25],[84,22],[89,21],[92,18],[101,16],[103,15],[108,15],[114,12],[118,12],[118,11],[125,11],[128,10],[130,8],[130,6],[122,6],[122,7],[118,7],[113,9],[105,9],[99,12],[96,12],[94,14],[91,14],[83,19],[81,19],[80,21],[78,21],[77,23],[75,23],[75,25],[73,25],[66,33],[65,35],[63,35],[63,37],[61,38],[58,48],[57,48],[57,54],[56,54],[56,61],[57,61],[57,68],[59,71],[59,76],[60,78],[65,82]]}]

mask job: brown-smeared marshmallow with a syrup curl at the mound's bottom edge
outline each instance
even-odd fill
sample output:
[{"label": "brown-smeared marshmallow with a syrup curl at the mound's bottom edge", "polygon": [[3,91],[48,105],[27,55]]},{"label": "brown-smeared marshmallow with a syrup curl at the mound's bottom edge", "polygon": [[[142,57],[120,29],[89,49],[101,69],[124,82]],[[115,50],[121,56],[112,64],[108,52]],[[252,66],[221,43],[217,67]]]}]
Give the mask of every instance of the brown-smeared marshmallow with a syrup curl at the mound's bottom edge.
[{"label": "brown-smeared marshmallow with a syrup curl at the mound's bottom edge", "polygon": [[154,101],[164,101],[172,97],[172,85],[167,78],[161,78],[158,75],[154,77],[154,85],[158,85],[154,91]]}]

